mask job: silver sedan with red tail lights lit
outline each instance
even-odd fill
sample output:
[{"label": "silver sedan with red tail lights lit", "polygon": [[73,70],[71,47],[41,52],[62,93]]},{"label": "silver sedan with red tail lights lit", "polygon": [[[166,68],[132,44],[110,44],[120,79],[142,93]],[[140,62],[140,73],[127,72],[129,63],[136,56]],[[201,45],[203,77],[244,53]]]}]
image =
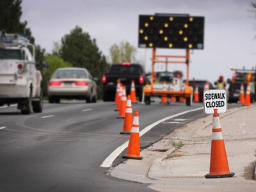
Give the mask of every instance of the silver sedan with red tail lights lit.
[{"label": "silver sedan with red tail lights lit", "polygon": [[48,83],[49,103],[60,99],[85,99],[97,102],[97,84],[86,68],[58,68]]}]

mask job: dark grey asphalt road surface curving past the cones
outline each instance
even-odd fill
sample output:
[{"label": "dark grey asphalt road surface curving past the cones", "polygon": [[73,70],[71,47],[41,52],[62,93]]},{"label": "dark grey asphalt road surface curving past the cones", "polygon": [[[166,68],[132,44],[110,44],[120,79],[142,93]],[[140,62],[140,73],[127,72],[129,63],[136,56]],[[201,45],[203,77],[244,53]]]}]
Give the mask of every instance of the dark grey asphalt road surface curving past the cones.
[{"label": "dark grey asphalt road surface curving past the cones", "polygon": [[[140,131],[166,116],[202,108],[202,104],[170,106],[134,104],[140,111]],[[108,176],[100,164],[129,140],[119,134],[112,102],[45,102],[43,113],[21,115],[16,107],[0,108],[0,191],[152,191],[145,184]],[[141,148],[160,140],[196,118],[203,109],[166,120],[140,138]],[[113,166],[122,163],[122,152]]]}]

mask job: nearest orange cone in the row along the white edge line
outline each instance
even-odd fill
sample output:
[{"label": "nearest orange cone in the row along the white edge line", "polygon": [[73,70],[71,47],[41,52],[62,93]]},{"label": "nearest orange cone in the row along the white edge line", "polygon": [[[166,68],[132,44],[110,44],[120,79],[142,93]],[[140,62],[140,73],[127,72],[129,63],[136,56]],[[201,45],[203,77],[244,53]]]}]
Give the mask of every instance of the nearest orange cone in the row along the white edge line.
[{"label": "nearest orange cone in the row along the white edge line", "polygon": [[132,122],[132,131],[127,148],[125,159],[142,159],[140,156],[140,125],[139,125],[139,111],[135,111],[135,116]]}]

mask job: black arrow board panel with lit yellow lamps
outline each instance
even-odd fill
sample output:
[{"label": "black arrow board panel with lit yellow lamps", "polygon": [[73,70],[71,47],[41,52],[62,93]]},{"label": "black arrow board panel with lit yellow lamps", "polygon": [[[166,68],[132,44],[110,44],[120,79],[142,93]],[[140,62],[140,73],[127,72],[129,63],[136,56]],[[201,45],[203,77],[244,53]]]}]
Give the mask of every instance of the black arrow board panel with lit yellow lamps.
[{"label": "black arrow board panel with lit yellow lamps", "polygon": [[140,15],[139,47],[204,49],[204,17]]}]

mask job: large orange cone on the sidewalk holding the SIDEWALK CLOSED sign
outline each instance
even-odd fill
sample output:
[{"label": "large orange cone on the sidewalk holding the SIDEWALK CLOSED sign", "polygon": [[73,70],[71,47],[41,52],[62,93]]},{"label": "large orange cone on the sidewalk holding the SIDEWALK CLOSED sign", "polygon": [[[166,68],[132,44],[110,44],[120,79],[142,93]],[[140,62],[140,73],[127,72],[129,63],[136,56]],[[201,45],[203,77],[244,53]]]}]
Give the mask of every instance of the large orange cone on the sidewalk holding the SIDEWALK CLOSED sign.
[{"label": "large orange cone on the sidewalk holding the SIDEWALK CLOSED sign", "polygon": [[235,173],[230,173],[228,167],[228,159],[223,140],[220,118],[218,109],[214,109],[212,120],[212,145],[211,145],[211,162],[210,173],[205,175],[206,179],[233,177]]}]

